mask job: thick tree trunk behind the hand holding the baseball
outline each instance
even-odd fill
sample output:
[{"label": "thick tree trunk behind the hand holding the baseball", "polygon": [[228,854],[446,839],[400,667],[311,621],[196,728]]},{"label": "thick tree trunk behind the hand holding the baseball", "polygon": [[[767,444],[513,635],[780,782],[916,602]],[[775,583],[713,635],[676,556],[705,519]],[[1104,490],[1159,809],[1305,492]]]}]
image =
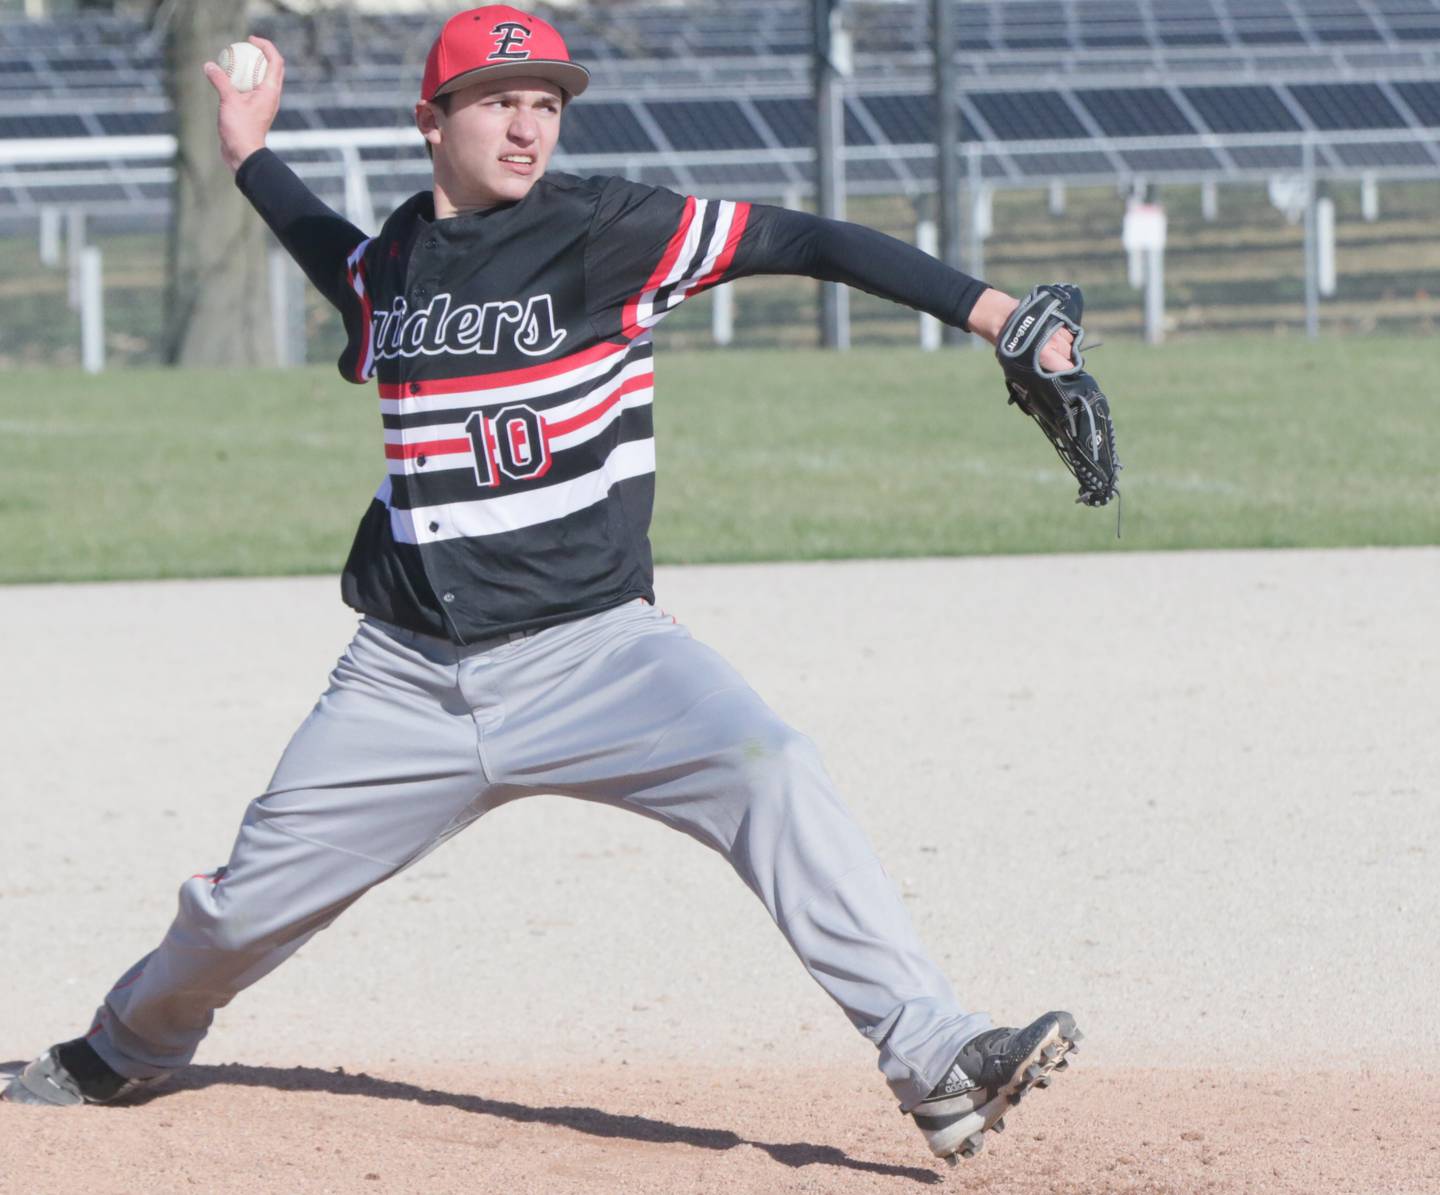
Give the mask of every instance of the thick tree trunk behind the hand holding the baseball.
[{"label": "thick tree trunk behind the hand holding the baseball", "polygon": [[274,366],[269,240],[220,161],[216,95],[200,66],[249,33],[248,0],[187,0],[170,19],[176,183],[166,291],[166,360]]}]

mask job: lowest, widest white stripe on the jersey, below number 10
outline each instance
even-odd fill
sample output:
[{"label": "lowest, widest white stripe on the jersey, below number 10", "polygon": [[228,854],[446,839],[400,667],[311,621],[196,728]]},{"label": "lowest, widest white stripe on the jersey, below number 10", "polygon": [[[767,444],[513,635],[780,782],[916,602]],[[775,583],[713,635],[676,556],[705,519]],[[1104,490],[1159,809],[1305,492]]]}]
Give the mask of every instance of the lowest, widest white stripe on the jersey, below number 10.
[{"label": "lowest, widest white stripe on the jersey, below number 10", "polygon": [[[438,507],[416,507],[412,511],[392,508],[390,530],[396,540],[408,544],[500,536],[593,507],[605,501],[616,482],[652,472],[655,472],[655,441],[628,441],[618,445],[600,468],[573,481],[475,502],[446,502]],[[432,523],[436,524],[435,531],[431,530]]]}]

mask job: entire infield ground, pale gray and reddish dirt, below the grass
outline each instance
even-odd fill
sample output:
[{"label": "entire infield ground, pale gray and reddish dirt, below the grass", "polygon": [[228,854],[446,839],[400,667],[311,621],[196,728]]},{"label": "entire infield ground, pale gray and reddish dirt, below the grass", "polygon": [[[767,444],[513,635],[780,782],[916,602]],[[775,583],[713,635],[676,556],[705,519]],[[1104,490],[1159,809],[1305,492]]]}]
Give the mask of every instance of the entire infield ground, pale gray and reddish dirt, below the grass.
[{"label": "entire infield ground, pale gray and reddish dirt, below the grass", "polygon": [[[541,798],[0,1192],[1440,1192],[1440,551],[662,570],[816,739],[962,999],[1087,1041],[955,1171],[703,848]],[[220,862],[331,580],[0,589],[0,1070]]]}]

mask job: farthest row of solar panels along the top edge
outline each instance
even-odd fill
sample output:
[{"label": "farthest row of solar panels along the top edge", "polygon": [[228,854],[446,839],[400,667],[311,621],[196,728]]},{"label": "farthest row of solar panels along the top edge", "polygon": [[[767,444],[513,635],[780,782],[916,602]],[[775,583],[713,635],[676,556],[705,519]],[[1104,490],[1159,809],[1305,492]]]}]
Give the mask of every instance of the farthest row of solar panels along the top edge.
[{"label": "farthest row of solar panels along the top edge", "polygon": [[[1440,42],[1440,0],[958,0],[965,55],[1104,50],[1253,50],[1405,48]],[[887,58],[926,50],[929,4],[851,3],[857,52]],[[606,6],[560,14],[572,53],[600,68],[636,59],[783,59],[809,52],[806,3],[737,0],[724,9]],[[374,68],[393,78],[423,62],[433,17],[333,13],[314,40],[320,73]],[[302,22],[274,27],[294,30]],[[314,29],[314,27],[312,27]],[[131,19],[0,22],[0,89],[158,88],[161,53]],[[300,78],[310,68],[302,66]]]}]

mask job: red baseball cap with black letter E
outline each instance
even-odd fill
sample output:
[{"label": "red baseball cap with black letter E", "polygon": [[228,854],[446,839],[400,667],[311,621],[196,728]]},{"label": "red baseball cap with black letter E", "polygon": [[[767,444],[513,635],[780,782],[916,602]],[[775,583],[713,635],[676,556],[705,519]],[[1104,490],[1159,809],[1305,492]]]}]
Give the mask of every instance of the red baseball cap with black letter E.
[{"label": "red baseball cap with black letter E", "polygon": [[445,22],[425,59],[420,99],[514,75],[549,79],[572,98],[590,82],[553,24],[508,4],[487,4]]}]

